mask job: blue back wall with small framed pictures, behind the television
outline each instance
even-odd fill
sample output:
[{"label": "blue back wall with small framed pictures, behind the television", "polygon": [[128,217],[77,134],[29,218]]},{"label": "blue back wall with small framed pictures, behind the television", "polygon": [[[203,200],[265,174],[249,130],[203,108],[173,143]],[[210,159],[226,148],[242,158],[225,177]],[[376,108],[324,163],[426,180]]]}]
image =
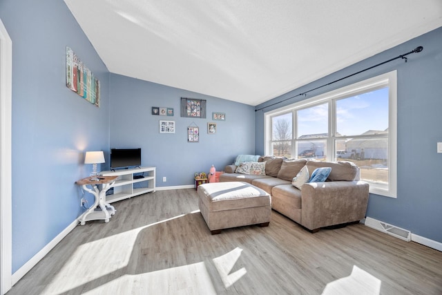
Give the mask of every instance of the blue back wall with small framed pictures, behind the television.
[{"label": "blue back wall with small framed pictures, behind the television", "polygon": [[[222,171],[240,153],[255,153],[254,107],[182,89],[111,74],[111,147],[142,148],[142,165],[157,167],[157,187],[193,184],[193,173]],[[206,119],[180,116],[180,97],[206,99]],[[173,108],[174,115],[151,115],[153,106]],[[211,120],[226,113],[225,121]],[[175,121],[175,134],[162,134],[160,120]],[[207,133],[215,122],[215,134]],[[200,128],[200,142],[187,142],[187,127]],[[163,177],[167,178],[162,182]]]}]

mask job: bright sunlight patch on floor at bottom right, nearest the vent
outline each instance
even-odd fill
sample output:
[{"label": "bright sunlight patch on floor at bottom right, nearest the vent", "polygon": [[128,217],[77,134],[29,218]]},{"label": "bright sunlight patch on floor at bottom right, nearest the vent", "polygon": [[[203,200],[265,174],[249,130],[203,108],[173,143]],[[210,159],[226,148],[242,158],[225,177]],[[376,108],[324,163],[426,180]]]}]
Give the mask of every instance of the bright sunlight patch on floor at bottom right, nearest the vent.
[{"label": "bright sunlight patch on floor at bottom right, nearest the vent", "polygon": [[322,295],[378,295],[381,283],[375,276],[353,265],[352,274],[328,283]]}]

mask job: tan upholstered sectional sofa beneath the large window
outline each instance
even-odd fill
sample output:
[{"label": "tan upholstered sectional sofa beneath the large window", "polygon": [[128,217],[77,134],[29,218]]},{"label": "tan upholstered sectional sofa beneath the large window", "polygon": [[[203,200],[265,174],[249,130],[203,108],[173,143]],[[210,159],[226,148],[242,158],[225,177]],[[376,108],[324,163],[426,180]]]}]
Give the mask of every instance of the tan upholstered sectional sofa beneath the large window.
[{"label": "tan upholstered sectional sofa beneath the large window", "polygon": [[[271,195],[271,207],[312,232],[323,227],[345,225],[365,218],[369,184],[359,180],[360,171],[353,162],[320,162],[287,160],[264,156],[265,175],[235,173],[238,166],[229,165],[220,182],[242,181],[264,189]],[[292,180],[302,167],[311,174],[316,168],[331,167],[325,182],[311,182],[294,187]]]}]

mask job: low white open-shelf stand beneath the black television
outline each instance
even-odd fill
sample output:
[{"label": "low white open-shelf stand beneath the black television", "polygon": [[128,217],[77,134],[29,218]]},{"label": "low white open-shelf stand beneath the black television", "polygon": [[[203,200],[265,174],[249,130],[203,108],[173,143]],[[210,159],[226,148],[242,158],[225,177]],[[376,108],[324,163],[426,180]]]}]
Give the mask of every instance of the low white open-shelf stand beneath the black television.
[{"label": "low white open-shelf stand beneath the black television", "polygon": [[[100,175],[117,176],[111,184],[113,193],[106,196],[106,201],[110,203],[155,191],[155,167],[102,171]],[[143,177],[137,178],[136,175]]]}]

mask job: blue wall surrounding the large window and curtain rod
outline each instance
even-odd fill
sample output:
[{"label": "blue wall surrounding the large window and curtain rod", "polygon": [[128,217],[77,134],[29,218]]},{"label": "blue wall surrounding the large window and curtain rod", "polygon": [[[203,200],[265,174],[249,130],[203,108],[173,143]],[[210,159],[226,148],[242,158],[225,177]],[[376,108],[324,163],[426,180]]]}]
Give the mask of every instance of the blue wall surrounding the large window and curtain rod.
[{"label": "blue wall surrounding the large window and curtain rod", "polygon": [[[257,108],[280,102],[293,95],[356,73],[407,53],[417,46],[423,46],[423,51],[409,55],[407,63],[397,59],[336,84],[320,88],[318,91],[309,93],[307,98],[397,70],[398,194],[396,199],[370,194],[367,216],[410,229],[413,234],[442,242],[442,184],[439,180],[442,154],[436,153],[436,142],[442,142],[442,28],[276,97]],[[289,99],[287,102],[256,112],[256,153],[264,152],[264,112],[300,100],[302,100],[300,97],[296,97],[296,99]]]}]

